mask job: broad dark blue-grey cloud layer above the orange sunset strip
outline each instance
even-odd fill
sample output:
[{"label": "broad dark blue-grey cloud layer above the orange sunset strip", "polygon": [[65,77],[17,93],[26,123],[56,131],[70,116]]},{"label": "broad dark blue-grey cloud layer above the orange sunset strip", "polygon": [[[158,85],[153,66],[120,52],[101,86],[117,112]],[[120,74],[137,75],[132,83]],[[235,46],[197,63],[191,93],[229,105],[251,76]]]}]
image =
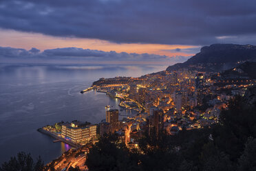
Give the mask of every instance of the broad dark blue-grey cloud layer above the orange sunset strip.
[{"label": "broad dark blue-grey cloud layer above the orange sunset strip", "polygon": [[255,21],[252,0],[0,1],[0,28],[119,43],[246,43]]}]

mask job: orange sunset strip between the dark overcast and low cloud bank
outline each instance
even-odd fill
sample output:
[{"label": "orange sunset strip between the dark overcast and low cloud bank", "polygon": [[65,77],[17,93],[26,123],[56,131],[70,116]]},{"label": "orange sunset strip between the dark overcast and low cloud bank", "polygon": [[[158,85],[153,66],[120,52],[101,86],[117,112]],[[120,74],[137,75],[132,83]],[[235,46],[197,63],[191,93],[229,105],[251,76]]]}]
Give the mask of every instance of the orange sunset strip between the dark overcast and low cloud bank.
[{"label": "orange sunset strip between the dark overcast and low cloud bank", "polygon": [[[103,50],[109,52],[114,50],[116,52],[127,53],[148,53],[167,55],[169,57],[184,56],[189,57],[193,54],[184,52],[175,52],[176,48],[199,48],[200,46],[182,46],[182,45],[164,45],[164,44],[146,44],[146,43],[113,43],[99,39],[81,39],[81,38],[63,38],[52,37],[39,33],[18,32],[14,30],[0,30],[0,46],[24,48],[38,48],[40,50],[52,48],[67,48],[76,47],[91,50]],[[24,43],[26,42],[26,43]]]}]

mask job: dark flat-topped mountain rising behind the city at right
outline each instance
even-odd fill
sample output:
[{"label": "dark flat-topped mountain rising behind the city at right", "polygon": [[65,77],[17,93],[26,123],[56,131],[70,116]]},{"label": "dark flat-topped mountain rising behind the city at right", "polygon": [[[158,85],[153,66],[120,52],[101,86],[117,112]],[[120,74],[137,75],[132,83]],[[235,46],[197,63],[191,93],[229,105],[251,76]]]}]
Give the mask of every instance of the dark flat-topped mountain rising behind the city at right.
[{"label": "dark flat-topped mountain rising behind the city at right", "polygon": [[173,66],[169,66],[167,71],[188,68],[218,72],[233,68],[237,63],[244,63],[245,61],[256,61],[256,46],[213,44],[204,46],[198,54],[195,54],[184,63],[176,63]]}]

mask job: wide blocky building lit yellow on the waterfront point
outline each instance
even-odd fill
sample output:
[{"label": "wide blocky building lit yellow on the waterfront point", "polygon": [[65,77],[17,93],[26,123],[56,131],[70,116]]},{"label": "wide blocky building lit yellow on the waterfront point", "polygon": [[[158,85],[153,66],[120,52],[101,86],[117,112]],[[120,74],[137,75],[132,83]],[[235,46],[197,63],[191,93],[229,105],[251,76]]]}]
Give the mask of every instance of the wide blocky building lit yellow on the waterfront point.
[{"label": "wide blocky building lit yellow on the waterfront point", "polygon": [[79,121],[63,124],[61,135],[75,143],[81,143],[95,139],[97,136],[97,125],[85,124]]}]

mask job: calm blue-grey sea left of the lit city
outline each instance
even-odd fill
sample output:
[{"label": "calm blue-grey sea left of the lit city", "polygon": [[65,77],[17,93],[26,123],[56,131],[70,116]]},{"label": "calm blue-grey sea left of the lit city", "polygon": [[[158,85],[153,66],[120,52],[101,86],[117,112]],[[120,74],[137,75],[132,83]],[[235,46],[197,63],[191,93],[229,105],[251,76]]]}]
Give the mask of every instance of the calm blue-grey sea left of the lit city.
[{"label": "calm blue-grey sea left of the lit city", "polygon": [[[105,119],[105,105],[118,108],[118,99],[104,93],[80,91],[101,77],[158,72],[167,66],[0,65],[0,163],[17,152],[39,155],[45,163],[70,149],[36,131],[58,121]],[[122,111],[130,114],[131,111]]]}]

